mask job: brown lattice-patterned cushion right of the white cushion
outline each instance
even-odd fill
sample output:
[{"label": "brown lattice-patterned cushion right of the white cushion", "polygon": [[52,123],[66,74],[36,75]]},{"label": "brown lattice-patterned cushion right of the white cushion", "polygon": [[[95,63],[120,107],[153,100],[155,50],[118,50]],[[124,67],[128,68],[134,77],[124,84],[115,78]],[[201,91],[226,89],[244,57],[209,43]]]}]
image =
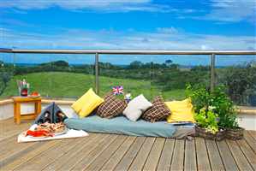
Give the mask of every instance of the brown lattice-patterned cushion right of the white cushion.
[{"label": "brown lattice-patterned cushion right of the white cushion", "polygon": [[152,104],[152,107],[142,114],[144,120],[151,122],[162,121],[170,115],[170,109],[164,104],[163,97],[155,97]]}]

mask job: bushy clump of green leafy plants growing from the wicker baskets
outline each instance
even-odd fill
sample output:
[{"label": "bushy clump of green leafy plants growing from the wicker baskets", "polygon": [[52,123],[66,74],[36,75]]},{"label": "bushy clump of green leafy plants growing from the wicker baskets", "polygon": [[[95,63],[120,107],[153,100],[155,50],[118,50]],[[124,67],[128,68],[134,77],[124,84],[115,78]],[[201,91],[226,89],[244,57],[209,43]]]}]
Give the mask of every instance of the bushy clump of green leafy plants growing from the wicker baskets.
[{"label": "bushy clump of green leafy plants growing from the wicker baskets", "polygon": [[[213,123],[213,114],[216,116],[215,119],[218,120],[218,127],[238,127],[234,103],[226,94],[223,85],[216,86],[213,91],[210,91],[205,85],[188,85],[186,96],[192,100],[195,119],[200,127],[214,127],[216,123]],[[202,117],[202,115],[205,116]],[[212,121],[202,122],[203,118]]]}]

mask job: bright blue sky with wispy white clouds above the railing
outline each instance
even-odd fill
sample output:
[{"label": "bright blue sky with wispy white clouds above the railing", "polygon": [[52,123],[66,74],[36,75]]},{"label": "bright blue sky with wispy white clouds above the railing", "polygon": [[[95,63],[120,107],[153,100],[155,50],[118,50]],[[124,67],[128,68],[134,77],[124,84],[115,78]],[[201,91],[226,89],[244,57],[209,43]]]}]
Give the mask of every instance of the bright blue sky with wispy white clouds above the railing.
[{"label": "bright blue sky with wispy white clouds above the railing", "polygon": [[256,50],[255,15],[255,0],[0,0],[0,47]]}]

